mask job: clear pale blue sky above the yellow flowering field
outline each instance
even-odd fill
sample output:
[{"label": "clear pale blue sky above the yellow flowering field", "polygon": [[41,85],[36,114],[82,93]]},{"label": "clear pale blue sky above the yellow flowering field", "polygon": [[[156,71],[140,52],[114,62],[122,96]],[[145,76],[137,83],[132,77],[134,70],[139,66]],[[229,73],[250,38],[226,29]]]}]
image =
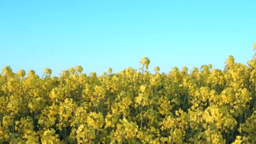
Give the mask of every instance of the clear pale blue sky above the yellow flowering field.
[{"label": "clear pale blue sky above the yellow flowering field", "polygon": [[255,0],[1,0],[0,68],[14,72],[81,65],[101,75],[139,68],[223,69],[246,64],[256,41]]}]

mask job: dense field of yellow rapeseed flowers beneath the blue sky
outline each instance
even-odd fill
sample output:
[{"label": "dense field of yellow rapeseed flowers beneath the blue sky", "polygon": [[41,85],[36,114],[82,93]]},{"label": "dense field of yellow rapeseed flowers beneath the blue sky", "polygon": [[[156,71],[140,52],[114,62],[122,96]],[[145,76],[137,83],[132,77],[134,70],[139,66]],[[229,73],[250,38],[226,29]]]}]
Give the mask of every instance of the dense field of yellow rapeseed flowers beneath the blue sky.
[{"label": "dense field of yellow rapeseed flowers beneath the blue sky", "polygon": [[224,70],[0,75],[0,143],[256,143],[256,58]]}]

